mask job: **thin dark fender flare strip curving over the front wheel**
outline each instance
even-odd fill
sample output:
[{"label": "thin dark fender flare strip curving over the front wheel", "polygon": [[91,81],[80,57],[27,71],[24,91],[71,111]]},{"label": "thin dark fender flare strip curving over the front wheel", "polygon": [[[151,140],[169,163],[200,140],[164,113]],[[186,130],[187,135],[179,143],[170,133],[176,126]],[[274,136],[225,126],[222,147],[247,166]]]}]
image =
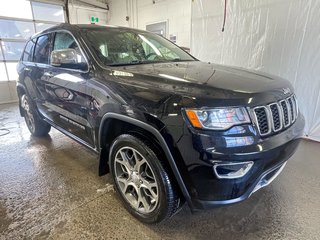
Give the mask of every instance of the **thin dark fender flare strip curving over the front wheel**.
[{"label": "thin dark fender flare strip curving over the front wheel", "polygon": [[[134,119],[134,118],[131,118],[131,117],[128,117],[128,116],[125,116],[125,115],[121,115],[121,114],[118,114],[118,113],[106,113],[103,117],[102,117],[102,120],[101,120],[101,123],[100,123],[100,127],[99,127],[99,149],[101,149],[101,146],[100,146],[100,143],[101,143],[101,134],[102,134],[102,127],[103,127],[103,124],[105,123],[105,121],[107,119],[117,119],[117,120],[121,120],[123,122],[127,122],[127,123],[130,123],[132,125],[135,125],[137,127],[140,127],[146,131],[148,131],[149,133],[151,133],[154,137],[156,137],[156,139],[158,140],[158,142],[160,143],[160,146],[162,148],[162,150],[164,151],[167,159],[168,159],[168,162],[170,164],[170,167],[171,167],[171,170],[174,174],[174,177],[179,185],[179,188],[185,198],[185,200],[188,202],[189,206],[192,206],[192,201],[191,201],[191,198],[190,198],[190,195],[189,195],[189,192],[184,184],[184,181],[180,175],[180,172],[178,170],[178,167],[174,161],[174,158],[170,152],[170,149],[166,143],[166,141],[164,140],[164,138],[162,137],[162,135],[160,134],[160,132],[155,129],[154,127],[152,127],[151,125],[147,124],[147,123],[144,123],[140,120],[137,120],[137,119]],[[109,156],[110,157],[110,156]]]}]

